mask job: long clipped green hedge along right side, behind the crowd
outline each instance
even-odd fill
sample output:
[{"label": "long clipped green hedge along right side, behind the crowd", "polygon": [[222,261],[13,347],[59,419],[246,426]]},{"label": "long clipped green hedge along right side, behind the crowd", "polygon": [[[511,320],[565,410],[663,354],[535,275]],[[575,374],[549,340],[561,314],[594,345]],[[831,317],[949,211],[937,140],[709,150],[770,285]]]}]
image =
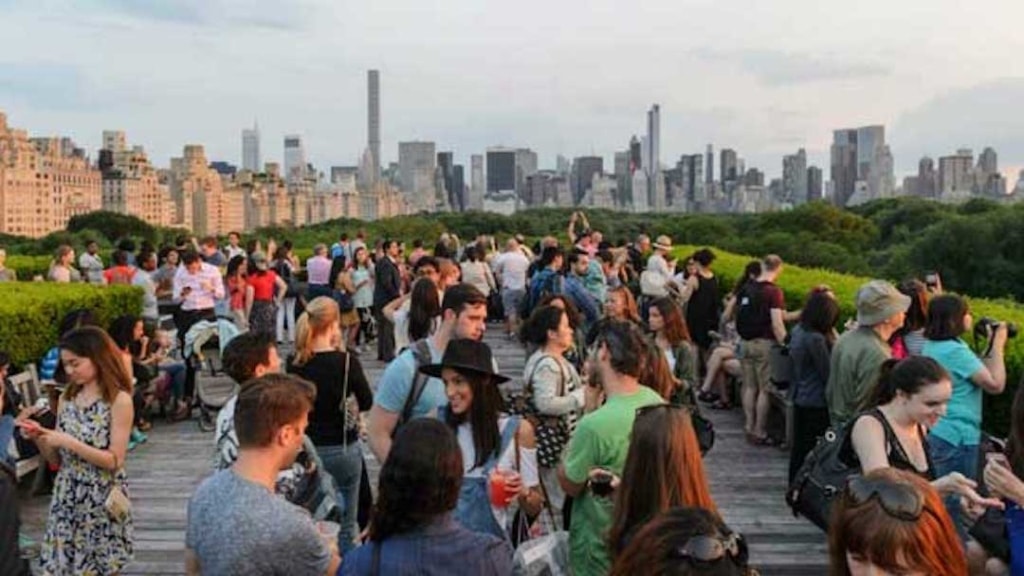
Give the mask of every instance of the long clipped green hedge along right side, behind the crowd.
[{"label": "long clipped green hedge along right side, behind the crowd", "polygon": [[[699,246],[680,246],[676,253],[680,258],[692,254]],[[725,252],[712,248],[717,256],[712,268],[719,276],[723,289],[731,289],[736,280],[743,274],[746,262],[755,259],[752,256],[744,256]],[[837,272],[820,269],[805,269],[797,265],[785,264],[782,268],[782,275],[778,279],[778,286],[785,295],[786,306],[790,310],[798,310],[803,305],[807,294],[811,289],[820,284],[827,284],[840,302],[842,325],[847,319],[856,318],[857,311],[854,305],[857,290],[869,278],[849,276]],[[967,297],[972,316],[975,321],[987,317],[998,321],[1013,322],[1019,327],[1024,327],[1024,306],[1009,300],[989,300],[985,298]],[[965,339],[969,344],[974,344],[973,336],[966,335]],[[1011,339],[1007,343],[1006,349],[1007,364],[1007,388],[999,396],[985,395],[984,426],[987,430],[998,436],[1006,436],[1010,429],[1010,408],[1013,405],[1014,394],[1020,384],[1021,377],[1024,376],[1024,335]]]}]

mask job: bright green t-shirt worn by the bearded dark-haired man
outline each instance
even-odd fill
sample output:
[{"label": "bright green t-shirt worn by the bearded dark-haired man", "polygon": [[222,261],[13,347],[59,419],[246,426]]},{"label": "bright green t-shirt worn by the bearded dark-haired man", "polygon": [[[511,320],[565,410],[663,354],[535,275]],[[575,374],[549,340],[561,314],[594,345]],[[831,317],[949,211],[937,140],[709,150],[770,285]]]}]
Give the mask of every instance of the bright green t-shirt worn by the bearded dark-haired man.
[{"label": "bright green t-shirt worn by the bearded dark-haired man", "polygon": [[[640,386],[629,396],[609,398],[604,406],[584,416],[565,451],[566,478],[583,484],[594,467],[622,476],[637,409],[664,402],[654,390]],[[605,537],[611,528],[612,508],[610,497],[599,498],[589,490],[572,501],[569,561],[577,576],[608,573],[611,558]]]}]

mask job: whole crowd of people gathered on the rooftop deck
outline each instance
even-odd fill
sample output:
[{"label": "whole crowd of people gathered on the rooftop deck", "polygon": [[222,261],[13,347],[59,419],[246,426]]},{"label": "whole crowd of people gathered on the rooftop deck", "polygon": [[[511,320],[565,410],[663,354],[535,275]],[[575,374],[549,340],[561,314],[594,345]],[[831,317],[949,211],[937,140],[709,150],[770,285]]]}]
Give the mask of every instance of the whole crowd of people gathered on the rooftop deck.
[{"label": "whole crowd of people gathered on the rooftop deck", "polygon": [[[223,247],[121,244],[110,266],[95,243],[77,260],[59,248],[49,280],[145,297],[139,317],[105,330],[87,311],[60,327],[41,366],[63,384],[55,421],[0,395],[0,446],[18,437],[50,464],[43,474],[56,470],[43,570],[130,562],[125,459],[155,406],[191,414],[186,334],[218,318],[237,328],[222,364],[240,387],[217,417],[215,471],[188,504],[190,574],[505,575],[529,562],[581,576],[756,574],[702,460],[702,411],[735,405],[744,442],[788,451],[791,481],[819,437],[849,430],[842,458],[860,474],[831,512],[834,574],[1024,568],[1024,394],[1006,453],[982,453],[982,398],[1006,386],[1005,323],[985,323],[979,355],[962,337],[973,329],[962,297],[873,280],[841,327],[827,286],[787,305],[778,256],[725,293],[709,249],[679,258],[664,235],[612,245],[582,213],[568,235],[511,237],[499,251],[494,238],[446,234],[407,254],[342,234],[305,262],[289,242],[243,247],[233,233]],[[525,347],[521,374],[483,342],[488,321]],[[376,382],[367,355],[387,363]],[[788,439],[770,425],[783,361]],[[382,466],[376,498],[364,444]],[[7,485],[0,498],[13,498]],[[969,531],[994,511],[1020,554]],[[17,547],[8,518],[4,550]]]}]

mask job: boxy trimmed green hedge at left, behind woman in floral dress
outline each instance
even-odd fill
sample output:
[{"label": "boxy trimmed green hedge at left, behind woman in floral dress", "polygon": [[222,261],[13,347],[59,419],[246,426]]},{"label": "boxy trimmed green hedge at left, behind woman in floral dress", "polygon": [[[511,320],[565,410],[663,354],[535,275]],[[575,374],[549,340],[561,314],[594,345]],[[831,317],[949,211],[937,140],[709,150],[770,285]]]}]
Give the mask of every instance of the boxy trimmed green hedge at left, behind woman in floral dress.
[{"label": "boxy trimmed green hedge at left, behind woman in floral dress", "polygon": [[36,362],[58,339],[60,320],[69,312],[89,308],[101,326],[142,310],[142,289],[50,282],[0,283],[0,349],[20,367]]}]

